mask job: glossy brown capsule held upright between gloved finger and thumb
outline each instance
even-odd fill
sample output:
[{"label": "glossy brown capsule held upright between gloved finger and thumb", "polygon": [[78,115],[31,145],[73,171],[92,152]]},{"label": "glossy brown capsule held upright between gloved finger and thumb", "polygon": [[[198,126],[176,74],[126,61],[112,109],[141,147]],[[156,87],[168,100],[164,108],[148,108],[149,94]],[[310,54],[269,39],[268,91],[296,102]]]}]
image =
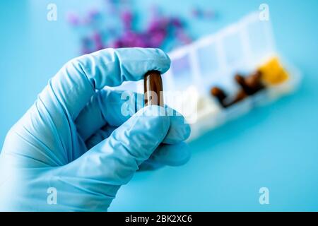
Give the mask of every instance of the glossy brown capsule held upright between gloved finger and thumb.
[{"label": "glossy brown capsule held upright between gloved finger and thumb", "polygon": [[148,71],[143,79],[145,106],[163,107],[163,81],[159,71]]}]

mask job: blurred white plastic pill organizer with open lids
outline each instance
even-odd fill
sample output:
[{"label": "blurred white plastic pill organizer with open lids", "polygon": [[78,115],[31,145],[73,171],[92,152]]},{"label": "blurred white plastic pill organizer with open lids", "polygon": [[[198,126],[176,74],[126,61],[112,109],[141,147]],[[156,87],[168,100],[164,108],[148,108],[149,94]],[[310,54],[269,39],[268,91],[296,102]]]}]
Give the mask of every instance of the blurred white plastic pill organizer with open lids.
[{"label": "blurred white plastic pill organizer with open lids", "polygon": [[[260,20],[258,12],[168,55],[172,64],[163,75],[165,104],[177,109],[191,125],[189,140],[240,117],[254,107],[293,92],[301,80],[298,69],[276,52],[271,22]],[[288,73],[286,81],[266,86],[266,89],[228,108],[223,108],[211,95],[213,86],[226,90],[228,95],[235,95],[240,89],[235,74],[252,73],[273,57],[279,59]],[[143,81],[126,82],[116,89],[143,93]]]}]

